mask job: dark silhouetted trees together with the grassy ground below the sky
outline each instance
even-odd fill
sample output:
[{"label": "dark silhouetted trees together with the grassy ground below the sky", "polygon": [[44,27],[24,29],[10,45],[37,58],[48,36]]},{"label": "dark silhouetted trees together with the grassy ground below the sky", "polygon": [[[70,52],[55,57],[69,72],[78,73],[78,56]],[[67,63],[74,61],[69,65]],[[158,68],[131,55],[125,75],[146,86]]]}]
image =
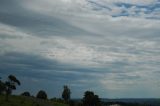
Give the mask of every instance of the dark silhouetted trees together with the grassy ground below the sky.
[{"label": "dark silhouetted trees together with the grassy ground below the sky", "polygon": [[[47,93],[44,90],[40,90],[36,97],[26,91],[20,96],[10,96],[12,90],[16,90],[16,86],[21,85],[20,81],[14,76],[9,75],[8,80],[3,82],[0,78],[0,106],[159,106],[158,102],[121,102],[121,101],[101,101],[98,95],[95,95],[93,91],[84,92],[83,98],[80,100],[71,99],[71,90],[67,85],[63,86],[62,98],[48,99]],[[4,101],[1,98],[4,97]]]}]

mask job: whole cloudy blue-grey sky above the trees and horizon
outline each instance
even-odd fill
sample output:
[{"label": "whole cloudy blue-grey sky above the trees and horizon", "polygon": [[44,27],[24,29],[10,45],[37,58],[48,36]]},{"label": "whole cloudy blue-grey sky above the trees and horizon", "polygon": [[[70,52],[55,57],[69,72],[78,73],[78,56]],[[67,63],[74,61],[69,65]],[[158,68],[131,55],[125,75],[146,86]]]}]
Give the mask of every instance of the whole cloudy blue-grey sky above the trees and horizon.
[{"label": "whole cloudy blue-grey sky above the trees and horizon", "polygon": [[160,97],[159,0],[0,0],[0,77],[14,94]]}]

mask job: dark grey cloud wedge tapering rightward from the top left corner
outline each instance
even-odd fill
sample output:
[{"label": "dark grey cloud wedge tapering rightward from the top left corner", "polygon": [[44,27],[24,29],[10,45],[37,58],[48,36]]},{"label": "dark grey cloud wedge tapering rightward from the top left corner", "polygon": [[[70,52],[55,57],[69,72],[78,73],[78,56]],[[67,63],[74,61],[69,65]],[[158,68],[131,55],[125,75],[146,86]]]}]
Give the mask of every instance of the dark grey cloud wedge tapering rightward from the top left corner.
[{"label": "dark grey cloud wedge tapering rightward from the top left corner", "polygon": [[21,3],[22,2],[18,2],[17,0],[13,0],[12,2],[3,1],[1,4],[2,10],[0,11],[0,22],[18,27],[27,33],[41,37],[90,34],[64,20],[27,10],[21,6]]}]

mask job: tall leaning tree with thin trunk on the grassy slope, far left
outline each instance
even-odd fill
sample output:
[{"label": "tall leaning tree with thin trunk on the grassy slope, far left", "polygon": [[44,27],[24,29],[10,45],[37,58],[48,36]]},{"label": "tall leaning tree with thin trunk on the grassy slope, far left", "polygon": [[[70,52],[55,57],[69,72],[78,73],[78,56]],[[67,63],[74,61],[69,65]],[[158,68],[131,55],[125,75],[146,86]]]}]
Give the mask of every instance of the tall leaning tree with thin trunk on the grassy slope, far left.
[{"label": "tall leaning tree with thin trunk on the grassy slope, far left", "polygon": [[8,95],[12,93],[12,90],[16,90],[16,85],[21,85],[20,81],[14,75],[9,75],[8,81],[5,82],[6,101],[8,101]]}]

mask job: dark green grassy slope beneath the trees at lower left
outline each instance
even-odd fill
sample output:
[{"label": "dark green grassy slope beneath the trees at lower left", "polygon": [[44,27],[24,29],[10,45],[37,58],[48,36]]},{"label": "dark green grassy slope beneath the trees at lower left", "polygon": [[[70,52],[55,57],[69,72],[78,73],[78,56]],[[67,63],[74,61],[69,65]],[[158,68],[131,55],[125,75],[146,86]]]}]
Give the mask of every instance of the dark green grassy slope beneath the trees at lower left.
[{"label": "dark green grassy slope beneath the trees at lower left", "polygon": [[68,106],[63,103],[49,100],[40,100],[34,97],[9,96],[9,101],[5,101],[5,96],[0,95],[0,106]]}]

